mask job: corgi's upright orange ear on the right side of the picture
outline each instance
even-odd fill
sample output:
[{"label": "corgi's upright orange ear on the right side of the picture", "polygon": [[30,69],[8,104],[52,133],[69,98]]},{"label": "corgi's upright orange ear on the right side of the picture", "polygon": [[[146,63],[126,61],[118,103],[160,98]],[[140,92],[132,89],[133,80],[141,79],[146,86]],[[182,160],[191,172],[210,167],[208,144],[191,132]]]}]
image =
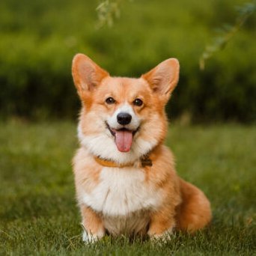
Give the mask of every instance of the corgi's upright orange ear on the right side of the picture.
[{"label": "corgi's upright orange ear on the right side of the picture", "polygon": [[177,85],[179,73],[179,61],[176,58],[168,58],[141,77],[147,80],[153,92],[168,100]]}]

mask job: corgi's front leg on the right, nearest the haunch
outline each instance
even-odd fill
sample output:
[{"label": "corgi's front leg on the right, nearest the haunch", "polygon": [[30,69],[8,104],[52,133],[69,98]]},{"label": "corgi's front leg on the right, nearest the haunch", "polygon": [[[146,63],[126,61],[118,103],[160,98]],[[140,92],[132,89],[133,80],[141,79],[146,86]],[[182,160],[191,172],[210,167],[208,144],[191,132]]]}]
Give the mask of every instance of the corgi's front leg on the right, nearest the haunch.
[{"label": "corgi's front leg on the right, nearest the haunch", "polygon": [[174,215],[170,214],[170,207],[162,207],[161,210],[151,214],[150,226],[147,234],[152,239],[170,239],[170,234],[175,226]]}]

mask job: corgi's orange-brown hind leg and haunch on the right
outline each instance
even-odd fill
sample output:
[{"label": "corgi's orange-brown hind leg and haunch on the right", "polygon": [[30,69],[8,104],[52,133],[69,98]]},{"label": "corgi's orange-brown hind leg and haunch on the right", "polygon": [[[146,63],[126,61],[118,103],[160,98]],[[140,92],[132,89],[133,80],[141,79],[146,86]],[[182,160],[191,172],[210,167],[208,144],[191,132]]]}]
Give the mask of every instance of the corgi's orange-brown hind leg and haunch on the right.
[{"label": "corgi's orange-brown hind leg and haunch on the right", "polygon": [[194,232],[204,228],[212,219],[210,202],[204,193],[180,179],[182,203],[177,207],[176,229]]}]

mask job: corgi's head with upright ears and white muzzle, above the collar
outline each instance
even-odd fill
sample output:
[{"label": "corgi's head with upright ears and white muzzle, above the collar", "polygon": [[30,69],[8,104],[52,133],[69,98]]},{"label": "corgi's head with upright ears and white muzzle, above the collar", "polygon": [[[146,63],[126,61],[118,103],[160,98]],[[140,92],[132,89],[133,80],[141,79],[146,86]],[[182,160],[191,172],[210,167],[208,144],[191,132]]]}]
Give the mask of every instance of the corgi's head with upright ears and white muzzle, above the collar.
[{"label": "corgi's head with upright ears and white muzzle, above the collar", "polygon": [[78,54],[72,73],[82,101],[79,140],[94,156],[132,162],[165,138],[165,104],[177,85],[177,59],[169,58],[133,79],[109,76]]}]

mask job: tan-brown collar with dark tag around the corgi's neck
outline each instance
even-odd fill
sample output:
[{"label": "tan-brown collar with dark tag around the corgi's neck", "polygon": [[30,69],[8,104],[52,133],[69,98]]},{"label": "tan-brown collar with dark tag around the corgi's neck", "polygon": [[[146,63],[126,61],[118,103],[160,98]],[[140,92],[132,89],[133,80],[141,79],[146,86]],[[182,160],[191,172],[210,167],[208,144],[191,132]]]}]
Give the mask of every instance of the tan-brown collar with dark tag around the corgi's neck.
[{"label": "tan-brown collar with dark tag around the corgi's neck", "polygon": [[[103,165],[104,167],[124,168],[124,167],[135,166],[135,162],[128,162],[126,164],[118,164],[117,162],[114,162],[112,160],[100,158],[100,156],[94,156],[94,159],[98,164]],[[147,155],[141,157],[138,167],[143,168],[143,167],[152,166],[152,165],[153,165],[152,160],[150,159],[149,154],[147,154]]]}]

